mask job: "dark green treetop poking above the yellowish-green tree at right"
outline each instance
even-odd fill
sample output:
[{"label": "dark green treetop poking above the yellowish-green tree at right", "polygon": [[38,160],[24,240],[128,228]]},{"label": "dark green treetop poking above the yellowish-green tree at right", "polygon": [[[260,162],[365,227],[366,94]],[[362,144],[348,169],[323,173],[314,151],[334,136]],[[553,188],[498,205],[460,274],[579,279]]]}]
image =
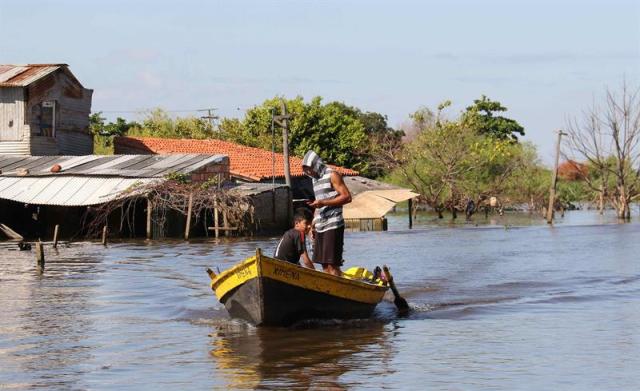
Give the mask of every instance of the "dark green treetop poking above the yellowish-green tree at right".
[{"label": "dark green treetop poking above the yellowish-green tree at right", "polygon": [[492,101],[482,95],[467,107],[462,115],[462,122],[475,129],[478,133],[502,140],[518,140],[518,135],[524,136],[524,128],[517,121],[495,113],[507,111],[498,101]]}]

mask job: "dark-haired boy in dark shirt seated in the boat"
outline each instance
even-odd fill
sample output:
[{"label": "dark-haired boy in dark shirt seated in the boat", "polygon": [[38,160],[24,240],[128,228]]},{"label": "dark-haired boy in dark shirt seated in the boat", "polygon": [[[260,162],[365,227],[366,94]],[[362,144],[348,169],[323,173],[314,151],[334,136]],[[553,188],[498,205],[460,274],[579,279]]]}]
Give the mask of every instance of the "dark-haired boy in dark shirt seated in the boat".
[{"label": "dark-haired boy in dark shirt seated in the boat", "polygon": [[275,257],[283,261],[300,264],[300,256],[304,266],[315,269],[313,262],[309,259],[306,246],[306,235],[311,231],[313,215],[308,209],[299,208],[293,215],[293,228],[288,230],[280,239],[276,248]]}]

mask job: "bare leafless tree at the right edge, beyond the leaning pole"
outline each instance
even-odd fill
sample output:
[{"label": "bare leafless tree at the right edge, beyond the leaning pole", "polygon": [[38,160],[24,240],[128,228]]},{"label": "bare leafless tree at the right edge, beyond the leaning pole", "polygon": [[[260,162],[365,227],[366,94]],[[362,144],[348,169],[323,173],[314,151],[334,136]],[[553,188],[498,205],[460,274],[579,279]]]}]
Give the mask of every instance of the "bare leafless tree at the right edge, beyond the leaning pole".
[{"label": "bare leafless tree at the right edge, beyond the leaning pole", "polygon": [[619,93],[608,89],[604,107],[593,105],[567,131],[565,155],[587,161],[588,186],[609,199],[618,218],[630,219],[630,204],[640,196],[640,89],[626,82]]}]

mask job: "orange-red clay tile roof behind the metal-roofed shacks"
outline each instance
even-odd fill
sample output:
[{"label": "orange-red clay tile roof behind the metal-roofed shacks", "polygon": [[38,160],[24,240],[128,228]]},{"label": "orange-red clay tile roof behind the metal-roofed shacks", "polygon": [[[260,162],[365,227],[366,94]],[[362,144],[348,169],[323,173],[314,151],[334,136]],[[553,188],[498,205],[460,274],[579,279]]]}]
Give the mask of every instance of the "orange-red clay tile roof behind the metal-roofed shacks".
[{"label": "orange-red clay tile roof behind the metal-roofed shacks", "polygon": [[[192,140],[192,139],[169,139],[151,137],[117,137],[115,139],[115,153],[211,153],[229,156],[229,171],[231,175],[242,177],[254,181],[270,179],[273,175],[271,161],[271,151],[261,148],[247,147],[216,139]],[[284,177],[284,156],[281,153],[275,154],[275,177]],[[333,166],[342,175],[358,175],[358,172],[349,168]],[[289,157],[289,167],[292,177],[301,177],[302,159],[295,156]]]}]

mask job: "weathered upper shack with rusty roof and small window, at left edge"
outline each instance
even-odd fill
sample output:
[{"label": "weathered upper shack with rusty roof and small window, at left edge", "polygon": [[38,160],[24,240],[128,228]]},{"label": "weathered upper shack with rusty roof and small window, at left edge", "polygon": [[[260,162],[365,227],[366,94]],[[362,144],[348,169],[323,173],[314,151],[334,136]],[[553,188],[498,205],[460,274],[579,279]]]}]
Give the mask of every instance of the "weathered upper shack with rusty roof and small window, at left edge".
[{"label": "weathered upper shack with rusty roof and small window, at left edge", "polygon": [[0,65],[0,154],[92,154],[92,94],[66,64]]}]

